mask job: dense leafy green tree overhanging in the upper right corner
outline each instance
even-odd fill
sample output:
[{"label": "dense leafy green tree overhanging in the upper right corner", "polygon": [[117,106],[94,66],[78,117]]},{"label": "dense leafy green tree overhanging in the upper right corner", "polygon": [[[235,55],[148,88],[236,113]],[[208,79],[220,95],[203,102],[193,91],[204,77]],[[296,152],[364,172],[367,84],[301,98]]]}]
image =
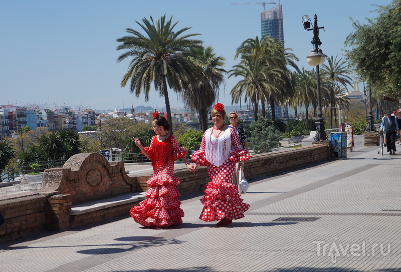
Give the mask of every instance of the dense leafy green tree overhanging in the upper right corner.
[{"label": "dense leafy green tree overhanging in the upper right corner", "polygon": [[352,21],[354,32],[344,42],[350,65],[366,81],[376,98],[398,100],[401,87],[401,1],[379,6],[379,15],[367,24]]}]

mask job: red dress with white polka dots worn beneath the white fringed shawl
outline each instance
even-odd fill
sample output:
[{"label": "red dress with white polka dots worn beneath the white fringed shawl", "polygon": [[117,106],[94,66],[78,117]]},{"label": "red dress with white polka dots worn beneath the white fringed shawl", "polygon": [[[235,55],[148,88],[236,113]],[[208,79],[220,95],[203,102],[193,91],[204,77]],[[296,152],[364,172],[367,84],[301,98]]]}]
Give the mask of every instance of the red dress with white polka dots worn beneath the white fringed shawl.
[{"label": "red dress with white polka dots worn beneath the white fringed shawl", "polygon": [[208,162],[205,153],[205,134],[200,144],[200,149],[191,155],[192,162],[208,166],[210,182],[205,185],[205,196],[200,199],[204,208],[199,218],[210,222],[219,221],[223,218],[230,220],[244,217],[244,212],[249,209],[249,204],[244,203],[238,193],[237,185],[231,183],[235,164],[249,160],[252,156],[244,148],[241,148],[240,139],[236,129],[229,128],[231,139],[231,156],[221,166],[215,166]]}]

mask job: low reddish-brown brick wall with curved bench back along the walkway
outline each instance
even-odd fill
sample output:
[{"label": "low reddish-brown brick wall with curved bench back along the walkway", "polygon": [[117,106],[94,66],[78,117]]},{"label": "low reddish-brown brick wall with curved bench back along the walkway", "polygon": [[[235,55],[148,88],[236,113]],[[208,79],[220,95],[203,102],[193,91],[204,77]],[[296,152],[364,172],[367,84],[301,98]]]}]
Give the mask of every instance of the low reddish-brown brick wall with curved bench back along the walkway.
[{"label": "low reddish-brown brick wall with curved bench back along the walkway", "polygon": [[[259,176],[294,170],[329,158],[330,146],[327,142],[258,154],[245,162],[245,177],[252,182]],[[209,181],[206,167],[199,167],[195,174],[187,169],[176,170],[174,175],[181,179],[177,186],[181,195],[199,192]],[[107,214],[91,211],[76,220],[69,211],[74,204],[146,191],[148,178],[129,177],[122,162],[110,164],[97,153],[74,155],[63,168],[46,169],[38,191],[0,197],[0,212],[6,219],[6,223],[0,226],[0,240],[44,229],[65,230],[112,215],[126,213],[129,216],[130,204],[112,207]]]}]

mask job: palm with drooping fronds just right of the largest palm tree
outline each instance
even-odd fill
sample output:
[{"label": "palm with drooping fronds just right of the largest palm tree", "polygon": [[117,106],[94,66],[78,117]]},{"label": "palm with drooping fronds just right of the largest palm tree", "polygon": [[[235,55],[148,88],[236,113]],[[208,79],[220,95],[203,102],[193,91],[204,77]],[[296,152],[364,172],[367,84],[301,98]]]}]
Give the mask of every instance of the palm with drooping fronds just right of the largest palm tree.
[{"label": "palm with drooping fronds just right of the largest palm tree", "polygon": [[209,109],[219,96],[219,88],[224,83],[224,57],[216,56],[214,48],[191,48],[190,53],[194,56],[189,59],[199,70],[196,81],[191,81],[183,92],[183,101],[186,106],[196,110],[199,115],[199,125],[202,131],[208,129]]}]

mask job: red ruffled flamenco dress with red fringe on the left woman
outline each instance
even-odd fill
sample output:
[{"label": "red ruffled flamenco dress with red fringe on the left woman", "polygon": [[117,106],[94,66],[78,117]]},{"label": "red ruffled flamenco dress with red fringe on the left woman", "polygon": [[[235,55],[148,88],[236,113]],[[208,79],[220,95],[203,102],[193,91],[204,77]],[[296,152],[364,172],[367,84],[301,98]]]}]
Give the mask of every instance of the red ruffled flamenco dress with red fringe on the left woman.
[{"label": "red ruffled flamenco dress with red fringe on the left woman", "polygon": [[181,181],[173,176],[174,160],[187,153],[179,147],[174,136],[160,142],[154,136],[149,147],[144,147],[153,166],[153,176],[146,182],[150,186],[145,193],[147,197],[133,206],[129,211],[134,220],[143,226],[167,227],[182,223],[183,210],[177,186]]}]

